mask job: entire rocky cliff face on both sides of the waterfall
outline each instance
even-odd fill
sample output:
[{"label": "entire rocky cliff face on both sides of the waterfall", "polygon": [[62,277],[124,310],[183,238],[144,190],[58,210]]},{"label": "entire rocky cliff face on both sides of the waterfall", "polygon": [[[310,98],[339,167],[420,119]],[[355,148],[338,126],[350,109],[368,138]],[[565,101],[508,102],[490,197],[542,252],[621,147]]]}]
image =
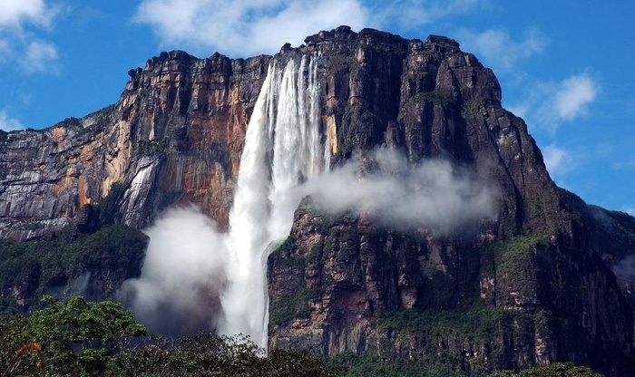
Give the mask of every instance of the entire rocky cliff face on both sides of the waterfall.
[{"label": "entire rocky cliff face on both sides of the waterfall", "polygon": [[633,219],[555,186],[491,70],[434,35],[342,26],[305,43],[248,60],[161,53],[131,70],[110,107],[0,133],[0,232],[29,239],[90,222],[87,208],[113,188],[132,227],[180,203],[227,227],[269,62],[316,53],[332,167],[377,148],[412,166],[452,160],[495,188],[495,214],[441,234],[327,214],[305,198],[269,257],[271,347],[406,363],[443,354],[474,375],[554,360],[633,367],[632,279],[610,269],[635,253]]}]

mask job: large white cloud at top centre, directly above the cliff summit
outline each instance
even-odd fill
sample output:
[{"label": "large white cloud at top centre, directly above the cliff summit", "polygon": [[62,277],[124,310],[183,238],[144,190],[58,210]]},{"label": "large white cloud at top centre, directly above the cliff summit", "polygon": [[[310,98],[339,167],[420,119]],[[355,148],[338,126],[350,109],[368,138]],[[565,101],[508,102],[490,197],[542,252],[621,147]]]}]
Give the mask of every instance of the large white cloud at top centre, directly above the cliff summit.
[{"label": "large white cloud at top centre, directly above the cliff summit", "polygon": [[275,53],[307,35],[347,24],[415,30],[489,5],[489,0],[143,0],[132,20],[150,25],[163,47],[231,55]]}]

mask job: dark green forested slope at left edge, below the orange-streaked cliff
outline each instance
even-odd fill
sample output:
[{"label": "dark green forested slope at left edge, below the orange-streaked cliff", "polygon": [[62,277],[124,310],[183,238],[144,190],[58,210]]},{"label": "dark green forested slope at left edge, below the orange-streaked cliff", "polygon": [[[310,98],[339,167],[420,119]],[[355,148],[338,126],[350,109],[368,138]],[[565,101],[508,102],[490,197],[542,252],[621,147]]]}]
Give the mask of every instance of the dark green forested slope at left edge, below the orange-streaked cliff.
[{"label": "dark green forested slope at left edge, below the orange-streaked cliff", "polygon": [[44,294],[112,297],[123,280],[141,274],[147,244],[124,225],[92,234],[69,226],[33,242],[0,238],[0,313],[25,313]]}]

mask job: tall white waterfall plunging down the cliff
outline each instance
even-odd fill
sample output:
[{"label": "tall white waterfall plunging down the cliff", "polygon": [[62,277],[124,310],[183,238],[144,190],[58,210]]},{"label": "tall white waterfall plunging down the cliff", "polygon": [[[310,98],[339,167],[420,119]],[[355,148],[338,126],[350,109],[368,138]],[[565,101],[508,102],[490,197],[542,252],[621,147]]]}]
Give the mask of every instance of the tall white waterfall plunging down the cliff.
[{"label": "tall white waterfall plunging down the cliff", "polygon": [[295,188],[329,164],[319,111],[318,55],[274,61],[251,115],[230,211],[230,286],[221,297],[220,332],[243,333],[266,348],[267,256],[288,236],[298,206]]}]

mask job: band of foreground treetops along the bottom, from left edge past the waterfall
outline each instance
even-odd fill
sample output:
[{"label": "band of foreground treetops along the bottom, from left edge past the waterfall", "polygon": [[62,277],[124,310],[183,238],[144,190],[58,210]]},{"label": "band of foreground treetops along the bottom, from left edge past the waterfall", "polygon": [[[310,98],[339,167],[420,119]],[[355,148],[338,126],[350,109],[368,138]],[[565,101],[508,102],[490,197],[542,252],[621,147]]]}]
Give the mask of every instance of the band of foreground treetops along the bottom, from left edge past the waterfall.
[{"label": "band of foreground treetops along the bottom, from left edge past the waterfall", "polygon": [[46,307],[29,316],[0,320],[0,376],[333,377],[341,372],[298,351],[272,350],[265,357],[242,335],[144,336],[145,327],[132,312],[110,301],[92,303],[81,296],[66,303],[51,296],[43,301]]}]

